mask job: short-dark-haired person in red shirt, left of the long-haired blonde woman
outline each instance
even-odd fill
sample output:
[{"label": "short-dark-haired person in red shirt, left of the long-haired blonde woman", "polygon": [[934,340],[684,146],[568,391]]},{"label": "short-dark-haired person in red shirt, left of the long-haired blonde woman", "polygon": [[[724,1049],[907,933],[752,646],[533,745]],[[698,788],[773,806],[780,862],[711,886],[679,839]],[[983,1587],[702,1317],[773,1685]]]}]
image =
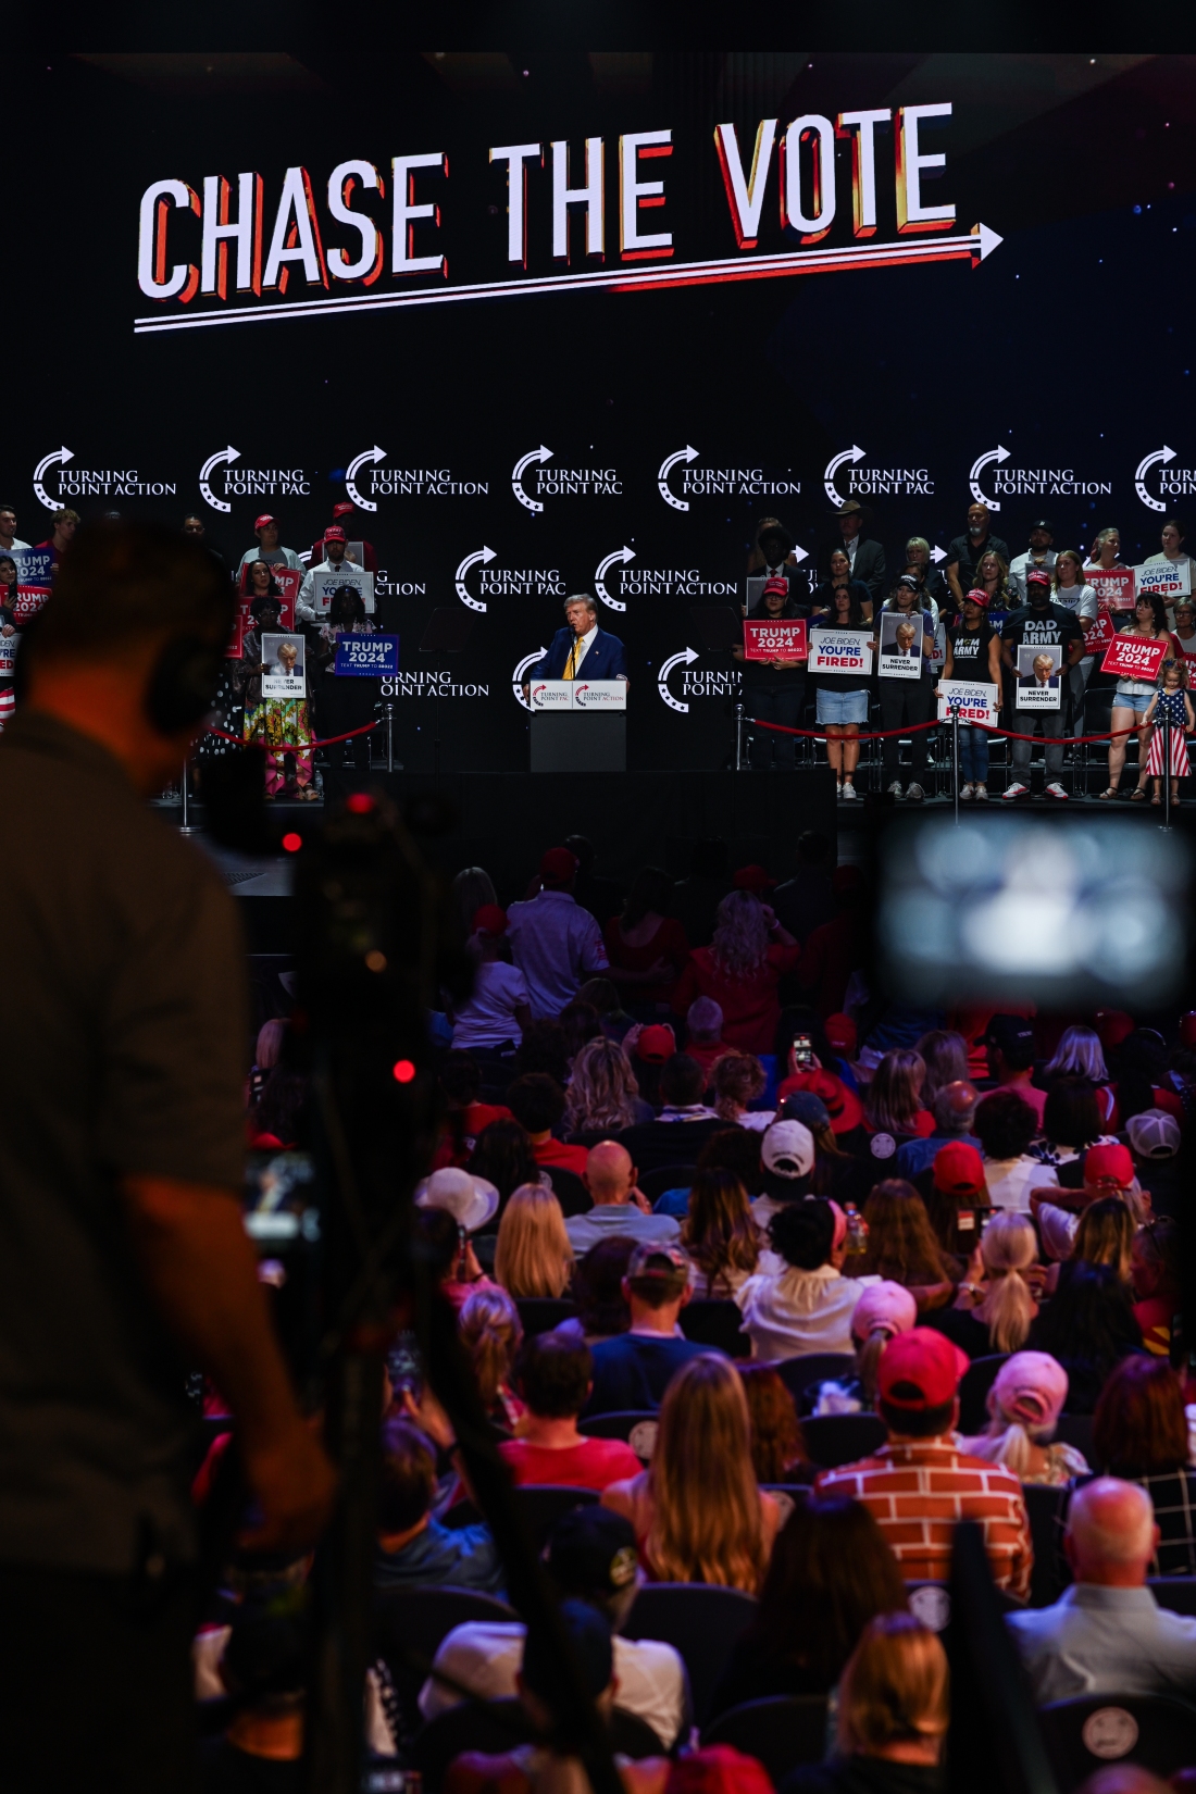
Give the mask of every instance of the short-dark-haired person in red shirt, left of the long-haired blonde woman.
[{"label": "short-dark-haired person in red shirt, left of the long-haired blonde woman", "polygon": [[524,1340],[516,1381],[527,1412],[518,1439],[498,1446],[515,1484],[601,1491],[638,1475],[640,1460],[622,1439],[585,1439],[577,1432],[592,1371],[590,1347],[577,1338],[538,1333]]}]

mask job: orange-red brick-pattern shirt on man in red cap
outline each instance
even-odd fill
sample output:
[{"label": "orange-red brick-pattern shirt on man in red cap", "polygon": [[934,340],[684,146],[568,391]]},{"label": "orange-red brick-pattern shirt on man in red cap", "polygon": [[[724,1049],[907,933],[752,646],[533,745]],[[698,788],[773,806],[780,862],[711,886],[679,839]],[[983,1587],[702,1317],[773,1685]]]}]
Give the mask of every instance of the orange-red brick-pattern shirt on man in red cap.
[{"label": "orange-red brick-pattern shirt on man in red cap", "polygon": [[952,1439],[880,1446],[859,1464],[825,1471],[816,1487],[864,1503],[907,1582],[945,1582],[954,1525],[975,1520],[997,1588],[1022,1598],[1029,1593],[1035,1554],[1022,1485],[999,1464],[959,1451]]}]

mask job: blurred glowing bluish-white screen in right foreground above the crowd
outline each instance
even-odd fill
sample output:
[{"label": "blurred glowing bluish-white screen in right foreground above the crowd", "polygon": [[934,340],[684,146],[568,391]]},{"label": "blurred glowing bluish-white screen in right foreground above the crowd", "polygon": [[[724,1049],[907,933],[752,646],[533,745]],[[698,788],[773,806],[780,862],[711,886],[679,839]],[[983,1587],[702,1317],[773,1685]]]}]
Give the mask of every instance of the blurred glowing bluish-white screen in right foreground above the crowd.
[{"label": "blurred glowing bluish-white screen in right foreground above the crowd", "polygon": [[877,967],[922,1003],[1178,1001],[1189,877],[1178,834],[1114,818],[900,823],[880,845]]}]

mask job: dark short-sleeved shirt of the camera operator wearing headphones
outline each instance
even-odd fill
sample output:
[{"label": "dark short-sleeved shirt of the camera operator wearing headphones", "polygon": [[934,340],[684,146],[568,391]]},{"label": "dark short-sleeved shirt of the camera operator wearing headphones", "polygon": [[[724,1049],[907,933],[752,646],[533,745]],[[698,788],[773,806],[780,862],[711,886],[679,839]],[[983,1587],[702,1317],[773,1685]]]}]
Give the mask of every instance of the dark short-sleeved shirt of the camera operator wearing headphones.
[{"label": "dark short-sleeved shirt of the camera operator wearing headphones", "polygon": [[[0,739],[0,1559],[194,1548],[194,1417],[118,1180],[240,1188],[244,944],[206,858],[97,743]],[[215,1198],[213,1200],[221,1200]]]}]

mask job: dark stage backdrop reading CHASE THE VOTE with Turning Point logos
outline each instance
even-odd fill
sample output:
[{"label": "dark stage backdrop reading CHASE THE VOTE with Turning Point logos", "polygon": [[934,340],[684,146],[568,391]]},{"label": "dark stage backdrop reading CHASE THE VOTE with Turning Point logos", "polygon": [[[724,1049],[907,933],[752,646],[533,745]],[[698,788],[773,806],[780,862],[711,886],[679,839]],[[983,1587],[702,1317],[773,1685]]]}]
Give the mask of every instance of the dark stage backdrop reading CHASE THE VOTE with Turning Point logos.
[{"label": "dark stage backdrop reading CHASE THE VOTE with Turning Point logos", "polygon": [[[16,504],[18,533],[48,533],[41,466],[47,495],[84,517],[181,522],[197,509],[235,560],[253,545],[255,515],[273,511],[283,542],[305,549],[346,497],[346,470],[377,447],[355,486],[377,504],[360,527],[386,570],[384,621],[402,637],[409,768],[430,764],[434,696],[448,770],[524,768],[516,669],[549,642],[565,594],[599,587],[610,599],[601,624],[628,644],[631,764],[723,764],[735,673],[706,646],[698,612],[739,605],[764,515],[791,527],[803,569],[816,569],[828,484],[868,504],[891,567],[911,533],[947,547],[972,479],[999,502],[993,529],[1015,553],[1045,513],[1058,547],[1087,549],[1099,527],[1119,526],[1128,562],[1157,551],[1164,515],[1183,515],[1196,490],[1192,57],[371,57],[348,47],[310,65],[282,54],[16,63],[7,239],[23,248],[5,282],[0,501]],[[898,109],[936,104],[950,115],[922,118],[906,158],[945,158],[916,197],[952,205],[954,219],[902,231]],[[854,233],[852,126],[827,142],[821,169],[816,124],[793,147],[782,224],[785,126],[834,126],[859,109],[889,115],[871,133],[873,233]],[[755,244],[741,248],[714,133],[735,126],[748,179],[766,118],[778,120],[776,147]],[[649,194],[629,228],[672,240],[669,255],[624,260],[620,136],[633,133],[669,133],[669,144],[667,154],[640,149],[631,172],[663,179],[663,205]],[[577,188],[588,138],[602,140],[602,257],[586,257],[577,206],[565,262],[552,255],[549,145],[568,144]],[[525,144],[542,147],[543,165],[524,165],[524,267],[507,262],[507,170],[490,151]],[[411,253],[446,255],[446,278],[391,267],[391,158],[421,154],[446,156],[448,174],[416,169],[411,188],[400,179],[400,197],[441,208],[439,224],[412,224]],[[350,192],[380,230],[377,278],[325,285],[296,260],[287,291],[238,292],[231,246],[226,298],[160,301],[138,289],[138,210],[156,181],[183,183],[201,205],[204,179],[224,178],[235,221],[238,176],[258,174],[255,255],[265,262],[287,170],[303,169],[310,219],[299,188],[282,246],[301,248],[310,228],[325,257],[335,246],[355,255],[360,233],[328,210],[328,176],[346,160],[386,183],[386,196],[360,179]],[[819,192],[823,206],[834,192],[834,219],[802,230],[793,213],[803,206],[818,222]],[[160,280],[176,262],[203,264],[201,219],[188,205],[165,213],[165,246],[151,255]],[[977,226],[1001,239],[983,260]],[[861,251],[882,266],[861,266]],[[771,274],[780,257],[809,269],[812,255],[839,266],[742,278],[757,257],[773,258]],[[628,291],[620,271],[662,283]],[[531,285],[585,274],[610,278],[590,291]],[[515,296],[373,303],[507,282]],[[371,303],[319,314],[344,298]],[[233,321],[210,323],[217,316]],[[158,328],[183,319],[192,325]],[[542,447],[550,456],[522,477],[533,509],[513,470]],[[228,511],[201,493],[221,450],[237,459],[217,461],[208,484],[230,488]],[[662,479],[687,509],[667,502]],[[464,606],[459,585],[486,610]],[[470,608],[464,651],[420,651],[438,606]]]}]

